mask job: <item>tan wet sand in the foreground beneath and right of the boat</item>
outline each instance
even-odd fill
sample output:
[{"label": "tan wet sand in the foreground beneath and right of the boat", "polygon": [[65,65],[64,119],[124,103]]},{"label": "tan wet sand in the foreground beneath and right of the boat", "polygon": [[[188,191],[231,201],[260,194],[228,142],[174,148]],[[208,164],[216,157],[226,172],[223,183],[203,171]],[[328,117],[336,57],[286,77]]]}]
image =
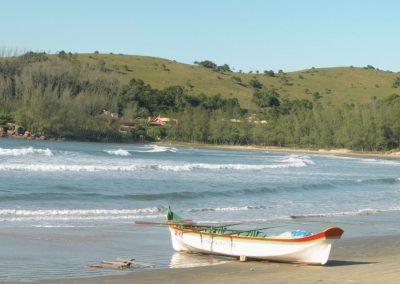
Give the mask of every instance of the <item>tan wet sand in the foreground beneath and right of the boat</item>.
[{"label": "tan wet sand in the foreground beneath and right of the boat", "polygon": [[325,266],[232,261],[131,272],[121,276],[42,283],[399,283],[400,236],[342,239]]}]

